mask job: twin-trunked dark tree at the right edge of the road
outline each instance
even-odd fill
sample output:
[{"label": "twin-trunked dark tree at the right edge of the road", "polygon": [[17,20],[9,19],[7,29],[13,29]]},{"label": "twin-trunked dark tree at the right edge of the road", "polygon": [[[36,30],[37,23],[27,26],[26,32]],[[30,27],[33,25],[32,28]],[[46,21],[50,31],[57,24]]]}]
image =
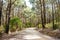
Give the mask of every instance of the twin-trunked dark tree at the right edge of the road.
[{"label": "twin-trunked dark tree at the right edge of the road", "polygon": [[46,12],[45,12],[45,0],[39,0],[40,1],[40,9],[41,9],[41,21],[42,21],[42,27],[45,28],[46,24]]}]

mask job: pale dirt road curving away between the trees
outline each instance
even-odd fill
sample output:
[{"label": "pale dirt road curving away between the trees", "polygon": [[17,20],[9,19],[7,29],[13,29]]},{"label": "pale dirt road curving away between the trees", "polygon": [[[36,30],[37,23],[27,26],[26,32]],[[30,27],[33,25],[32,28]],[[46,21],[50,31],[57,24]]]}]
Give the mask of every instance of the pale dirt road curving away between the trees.
[{"label": "pale dirt road curving away between the trees", "polygon": [[7,40],[57,40],[52,37],[43,35],[36,31],[34,28],[27,28],[19,32],[16,36]]}]

